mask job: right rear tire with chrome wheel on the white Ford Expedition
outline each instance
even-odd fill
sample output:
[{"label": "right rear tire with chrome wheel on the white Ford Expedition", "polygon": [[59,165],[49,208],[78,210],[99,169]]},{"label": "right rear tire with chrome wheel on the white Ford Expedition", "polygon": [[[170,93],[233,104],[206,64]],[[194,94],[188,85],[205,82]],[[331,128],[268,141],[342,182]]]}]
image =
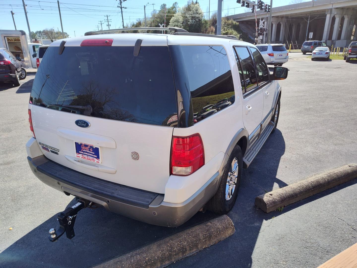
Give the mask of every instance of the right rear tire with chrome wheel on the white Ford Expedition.
[{"label": "right rear tire with chrome wheel on the white Ford Expedition", "polygon": [[242,149],[238,145],[235,145],[223,170],[218,190],[207,203],[209,210],[217,214],[227,214],[230,212],[237,200],[242,168]]}]

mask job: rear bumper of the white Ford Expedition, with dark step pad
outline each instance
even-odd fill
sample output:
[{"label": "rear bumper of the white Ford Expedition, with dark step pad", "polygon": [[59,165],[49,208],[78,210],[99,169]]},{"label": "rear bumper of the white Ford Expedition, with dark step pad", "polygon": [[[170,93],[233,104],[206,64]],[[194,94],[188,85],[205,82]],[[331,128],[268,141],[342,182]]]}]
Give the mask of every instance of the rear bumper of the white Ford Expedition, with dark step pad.
[{"label": "rear bumper of the white Ford Expedition, with dark step pad", "polygon": [[30,168],[43,183],[107,210],[142,222],[177,227],[185,223],[215,194],[216,172],[195,194],[182,203],[164,202],[164,195],[95,178],[57,164],[44,155],[27,157]]}]

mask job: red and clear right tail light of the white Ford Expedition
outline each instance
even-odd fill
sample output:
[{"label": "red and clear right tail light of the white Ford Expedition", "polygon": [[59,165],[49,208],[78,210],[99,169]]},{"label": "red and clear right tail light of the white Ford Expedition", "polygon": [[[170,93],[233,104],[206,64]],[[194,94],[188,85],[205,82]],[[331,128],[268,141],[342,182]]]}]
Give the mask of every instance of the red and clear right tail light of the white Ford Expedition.
[{"label": "red and clear right tail light of the white Ford Expedition", "polygon": [[200,134],[172,137],[170,174],[190,175],[205,164]]}]

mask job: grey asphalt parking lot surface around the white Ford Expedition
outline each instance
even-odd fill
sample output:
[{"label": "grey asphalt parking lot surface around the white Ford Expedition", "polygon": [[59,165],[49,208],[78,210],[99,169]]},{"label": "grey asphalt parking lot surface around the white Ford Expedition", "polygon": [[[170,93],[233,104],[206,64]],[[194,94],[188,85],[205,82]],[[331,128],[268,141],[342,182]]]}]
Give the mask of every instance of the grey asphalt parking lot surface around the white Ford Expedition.
[{"label": "grey asphalt parking lot surface around the white Ford Expedition", "polygon": [[[266,214],[254,206],[257,195],[357,162],[357,60],[306,56],[291,53],[283,65],[289,74],[280,82],[277,130],[243,170],[228,214],[235,234],[171,267],[317,267],[357,243],[357,179],[282,212]],[[75,201],[29,169],[25,143],[31,137],[27,104],[33,78],[29,74],[20,87],[0,85],[0,267],[91,267],[215,217],[199,212],[181,227],[165,228],[85,209],[75,238],[49,242],[57,214]]]}]

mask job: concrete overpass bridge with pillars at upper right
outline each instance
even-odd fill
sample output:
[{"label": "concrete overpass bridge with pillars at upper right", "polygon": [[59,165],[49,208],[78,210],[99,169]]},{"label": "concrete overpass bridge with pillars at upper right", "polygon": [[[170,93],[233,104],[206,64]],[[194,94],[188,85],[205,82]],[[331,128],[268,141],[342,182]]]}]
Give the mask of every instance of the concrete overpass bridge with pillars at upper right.
[{"label": "concrete overpass bridge with pillars at upper right", "polygon": [[[269,4],[269,0],[265,0]],[[273,2],[274,4],[274,2]],[[357,0],[312,0],[299,4],[272,8],[272,23],[269,13],[257,11],[257,20],[265,20],[265,28],[272,32],[271,43],[301,45],[308,40],[325,40],[328,45],[345,46],[357,40]],[[243,29],[255,32],[255,15],[251,12],[228,16],[238,21]],[[263,43],[266,43],[267,34]],[[300,47],[300,46],[299,46]]]}]

